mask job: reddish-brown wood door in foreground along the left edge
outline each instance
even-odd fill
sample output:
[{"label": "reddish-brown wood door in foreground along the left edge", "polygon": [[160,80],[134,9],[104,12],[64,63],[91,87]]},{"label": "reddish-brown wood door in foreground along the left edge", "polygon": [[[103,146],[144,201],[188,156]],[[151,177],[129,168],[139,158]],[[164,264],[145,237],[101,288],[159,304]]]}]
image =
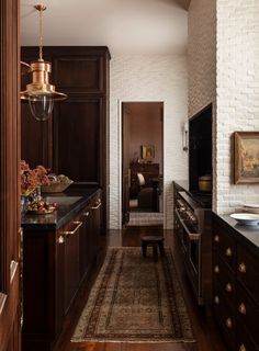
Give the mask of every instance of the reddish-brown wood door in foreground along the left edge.
[{"label": "reddish-brown wood door in foreground along the left edge", "polygon": [[20,350],[19,1],[0,0],[0,349]]}]

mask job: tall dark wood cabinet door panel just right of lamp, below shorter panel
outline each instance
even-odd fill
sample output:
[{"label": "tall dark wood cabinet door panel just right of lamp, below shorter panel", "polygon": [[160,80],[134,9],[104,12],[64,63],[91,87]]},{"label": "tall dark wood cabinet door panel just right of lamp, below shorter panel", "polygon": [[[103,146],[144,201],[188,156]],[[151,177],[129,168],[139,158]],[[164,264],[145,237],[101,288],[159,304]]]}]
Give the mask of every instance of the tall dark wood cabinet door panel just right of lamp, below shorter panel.
[{"label": "tall dark wood cabinet door panel just right of lamp, below shorter panel", "polygon": [[102,99],[69,99],[54,115],[55,171],[101,185]]}]

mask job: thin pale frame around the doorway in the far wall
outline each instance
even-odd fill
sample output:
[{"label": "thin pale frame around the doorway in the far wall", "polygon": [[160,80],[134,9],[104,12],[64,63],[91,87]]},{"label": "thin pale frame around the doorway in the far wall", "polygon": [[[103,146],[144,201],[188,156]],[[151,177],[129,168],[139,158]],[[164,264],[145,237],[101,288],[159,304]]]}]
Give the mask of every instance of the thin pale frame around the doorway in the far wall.
[{"label": "thin pale frame around the doorway in the far wall", "polygon": [[165,228],[166,226],[166,192],[165,192],[165,101],[164,100],[119,100],[117,101],[117,107],[119,107],[119,224],[120,227],[119,229],[122,229],[122,181],[123,181],[123,170],[122,170],[122,166],[123,166],[123,161],[122,161],[122,157],[123,157],[123,128],[122,128],[122,123],[123,123],[123,109],[122,109],[122,104],[123,103],[127,103],[127,102],[158,102],[162,104],[162,134],[161,134],[161,149],[162,149],[162,208],[164,208],[164,224],[162,227]]}]

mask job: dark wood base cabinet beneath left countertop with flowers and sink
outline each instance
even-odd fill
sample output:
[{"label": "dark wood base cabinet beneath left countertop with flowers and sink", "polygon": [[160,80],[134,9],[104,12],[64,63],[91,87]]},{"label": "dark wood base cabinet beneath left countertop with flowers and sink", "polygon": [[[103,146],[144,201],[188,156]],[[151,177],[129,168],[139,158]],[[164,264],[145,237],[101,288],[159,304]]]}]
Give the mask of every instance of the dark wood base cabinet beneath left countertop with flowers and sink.
[{"label": "dark wood base cabinet beneath left countertop with flowers and sink", "polygon": [[101,199],[98,191],[57,230],[24,229],[23,350],[54,349],[81,284],[100,260]]}]

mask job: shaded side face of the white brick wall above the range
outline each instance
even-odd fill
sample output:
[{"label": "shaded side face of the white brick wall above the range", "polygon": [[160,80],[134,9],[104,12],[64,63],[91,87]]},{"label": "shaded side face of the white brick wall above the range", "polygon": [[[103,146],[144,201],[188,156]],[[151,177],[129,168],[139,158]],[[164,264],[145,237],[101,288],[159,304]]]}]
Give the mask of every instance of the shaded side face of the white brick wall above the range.
[{"label": "shaded side face of the white brick wall above the range", "polygon": [[[192,0],[188,13],[188,114],[213,103],[216,138],[216,0]],[[216,148],[213,147],[213,207],[216,207]]]}]

